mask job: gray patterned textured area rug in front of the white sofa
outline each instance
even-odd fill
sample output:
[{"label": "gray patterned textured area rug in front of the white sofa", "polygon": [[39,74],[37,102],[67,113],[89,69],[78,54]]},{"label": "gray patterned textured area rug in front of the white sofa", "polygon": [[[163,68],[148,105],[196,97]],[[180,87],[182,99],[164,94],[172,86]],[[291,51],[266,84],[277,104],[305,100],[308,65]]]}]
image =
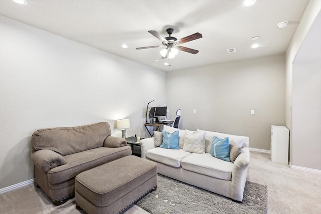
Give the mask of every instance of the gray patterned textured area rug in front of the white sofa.
[{"label": "gray patterned textured area rug in front of the white sofa", "polygon": [[136,205],[152,214],[164,213],[267,213],[267,187],[246,181],[243,201],[159,175],[157,189]]}]

